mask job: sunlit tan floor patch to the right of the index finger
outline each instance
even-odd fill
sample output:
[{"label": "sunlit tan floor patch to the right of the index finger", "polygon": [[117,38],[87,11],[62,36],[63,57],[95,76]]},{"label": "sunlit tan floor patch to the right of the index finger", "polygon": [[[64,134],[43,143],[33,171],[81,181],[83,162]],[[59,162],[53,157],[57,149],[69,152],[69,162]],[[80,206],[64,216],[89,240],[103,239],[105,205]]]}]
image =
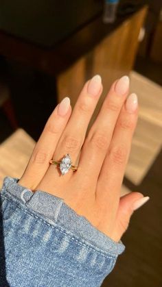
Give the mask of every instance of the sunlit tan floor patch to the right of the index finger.
[{"label": "sunlit tan floor patch to the right of the index finger", "polygon": [[139,118],[132,139],[126,177],[140,184],[162,146],[162,87],[132,71],[130,92],[136,92]]}]

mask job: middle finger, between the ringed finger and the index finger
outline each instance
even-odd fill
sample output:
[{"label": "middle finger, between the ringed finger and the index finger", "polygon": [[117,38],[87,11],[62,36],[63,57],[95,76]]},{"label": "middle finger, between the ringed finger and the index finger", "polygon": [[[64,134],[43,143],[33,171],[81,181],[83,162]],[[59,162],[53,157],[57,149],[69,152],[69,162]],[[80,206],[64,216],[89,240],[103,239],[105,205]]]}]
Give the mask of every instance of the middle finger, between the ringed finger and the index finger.
[{"label": "middle finger, between the ringed finger and the index finger", "polygon": [[128,90],[129,78],[127,76],[120,78],[111,86],[100,113],[84,142],[75,176],[80,176],[81,173],[89,182],[97,182],[108,146],[111,143],[117,117],[126,100]]}]

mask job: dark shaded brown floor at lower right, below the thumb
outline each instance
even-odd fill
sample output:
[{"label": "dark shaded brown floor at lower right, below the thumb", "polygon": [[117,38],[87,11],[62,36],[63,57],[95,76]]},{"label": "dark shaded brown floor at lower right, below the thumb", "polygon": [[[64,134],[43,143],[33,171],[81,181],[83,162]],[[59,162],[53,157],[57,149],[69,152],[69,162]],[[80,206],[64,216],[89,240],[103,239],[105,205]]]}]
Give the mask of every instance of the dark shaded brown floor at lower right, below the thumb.
[{"label": "dark shaded brown floor at lower right, below the thumb", "polygon": [[162,152],[138,188],[150,201],[137,210],[122,237],[126,250],[102,287],[162,286]]}]

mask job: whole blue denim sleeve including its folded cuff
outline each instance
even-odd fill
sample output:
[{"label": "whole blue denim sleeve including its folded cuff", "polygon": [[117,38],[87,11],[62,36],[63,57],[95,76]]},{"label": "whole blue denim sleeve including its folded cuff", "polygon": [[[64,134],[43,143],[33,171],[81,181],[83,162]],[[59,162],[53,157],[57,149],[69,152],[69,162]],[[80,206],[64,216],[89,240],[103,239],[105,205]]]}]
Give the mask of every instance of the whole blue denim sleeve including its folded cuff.
[{"label": "whole blue denim sleeve including its folded cuff", "polygon": [[100,232],[62,198],[18,181],[5,177],[0,192],[8,286],[101,286],[125,249],[122,241]]}]

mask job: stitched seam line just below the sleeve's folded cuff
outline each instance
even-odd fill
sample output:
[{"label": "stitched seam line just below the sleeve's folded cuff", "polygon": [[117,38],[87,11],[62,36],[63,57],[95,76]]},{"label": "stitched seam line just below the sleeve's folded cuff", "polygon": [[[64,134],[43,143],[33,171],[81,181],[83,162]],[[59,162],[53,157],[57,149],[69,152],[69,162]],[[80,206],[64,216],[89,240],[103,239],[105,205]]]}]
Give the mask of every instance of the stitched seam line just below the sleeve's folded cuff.
[{"label": "stitched seam line just below the sleeve's folded cuff", "polygon": [[[1,195],[1,197],[5,197],[5,195]],[[8,197],[5,197],[5,199],[7,199],[7,200],[9,200],[9,201],[12,201],[12,199],[9,199]],[[115,256],[114,256],[114,257],[111,257],[111,256],[109,256],[109,255],[106,255],[106,254],[103,253],[103,252],[97,251],[95,248],[90,247],[90,246],[86,245],[86,244],[83,243],[83,242],[80,242],[80,241],[79,241],[78,239],[76,239],[75,237],[72,237],[71,235],[67,234],[66,232],[63,232],[62,230],[60,230],[60,229],[62,229],[61,226],[59,227],[60,229],[58,229],[57,227],[54,227],[53,225],[51,225],[51,224],[48,223],[47,221],[44,221],[43,219],[41,219],[39,216],[36,216],[35,214],[32,214],[29,210],[25,210],[24,208],[21,208],[21,206],[20,206],[18,203],[16,203],[15,201],[14,201],[14,203],[18,206],[18,208],[20,208],[21,210],[23,210],[25,213],[30,214],[31,216],[35,217],[36,219],[39,219],[40,221],[43,221],[46,225],[49,225],[49,226],[52,227],[53,229],[56,229],[57,232],[61,232],[62,234],[65,234],[66,236],[68,236],[68,237],[71,238],[72,240],[75,240],[78,245],[83,245],[83,246],[85,246],[87,249],[91,249],[91,250],[93,250],[93,251],[99,253],[100,255],[103,255],[104,258],[108,258],[108,259],[116,259],[116,258],[117,258],[118,254],[114,254],[114,253],[113,253],[112,255],[115,255]],[[57,225],[57,223],[56,223],[56,225]],[[76,235],[74,235],[74,236],[76,236]],[[76,236],[76,237],[78,237],[78,236]],[[91,243],[89,243],[89,244],[91,244]]]}]

